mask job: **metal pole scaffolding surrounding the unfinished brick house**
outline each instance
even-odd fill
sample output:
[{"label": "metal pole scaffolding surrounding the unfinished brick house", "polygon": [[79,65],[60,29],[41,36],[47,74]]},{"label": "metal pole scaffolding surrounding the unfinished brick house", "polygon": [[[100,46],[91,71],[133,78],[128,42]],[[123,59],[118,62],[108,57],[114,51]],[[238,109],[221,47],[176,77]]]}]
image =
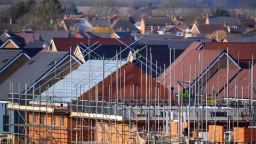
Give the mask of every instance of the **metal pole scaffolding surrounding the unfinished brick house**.
[{"label": "metal pole scaffolding surrounding the unfinished brick house", "polygon": [[[117,41],[121,42],[119,39]],[[134,43],[130,45],[123,44],[126,46],[125,49],[133,51],[131,46]],[[10,90],[7,91],[8,104],[6,108],[15,110],[19,114],[17,123],[10,124],[10,126],[18,129],[17,132],[12,133],[13,137],[18,138],[17,143],[255,142],[256,105],[254,105],[255,99],[253,97],[253,56],[252,64],[249,64],[248,99],[239,99],[237,95],[241,90],[239,81],[238,83],[235,82],[235,98],[229,99],[229,76],[227,77],[226,91],[224,89],[226,98],[220,99],[217,97],[217,93],[213,91],[214,87],[210,84],[207,85],[210,73],[205,73],[203,78],[191,81],[191,70],[193,70],[191,66],[189,68],[189,82],[185,82],[183,79],[184,65],[182,79],[176,79],[182,84],[175,85],[174,82],[171,82],[171,78],[165,79],[166,76],[173,76],[173,81],[175,81],[175,67],[173,74],[171,72],[166,74],[165,66],[162,69],[157,66],[157,62],[156,64],[152,62],[151,49],[147,46],[142,48],[147,49],[146,58],[142,55],[142,59],[145,59],[146,63],[138,59],[141,65],[140,68],[142,65],[146,66],[146,73],[141,70],[138,78],[133,79],[133,81],[139,81],[140,87],[125,85],[127,78],[129,78],[126,73],[123,73],[125,69],[122,69],[121,64],[121,54],[125,49],[119,53],[116,52],[115,57],[109,60],[105,60],[104,56],[99,56],[103,61],[100,68],[102,73],[97,77],[92,77],[95,71],[100,70],[99,68],[93,69],[93,65],[91,65],[91,59],[94,59],[91,58],[91,53],[94,53],[94,50],[99,47],[91,50],[93,45],[84,45],[86,50],[83,52],[89,57],[89,60],[87,60],[89,61],[89,81],[86,83],[81,79],[75,84],[75,87],[72,84],[74,78],[72,77],[74,70],[72,66],[75,65],[75,62],[71,58],[71,49],[70,60],[64,64],[65,66],[69,64],[69,67],[55,67],[55,70],[49,74],[54,74],[54,76],[47,79],[44,84],[37,87],[35,84],[26,85],[25,92],[20,89],[19,84],[19,92],[14,93],[13,84],[10,83]],[[175,50],[173,51],[174,59]],[[170,50],[170,63],[171,55]],[[105,65],[110,60],[116,61],[116,70],[111,71],[109,75],[111,76],[111,82],[107,85],[104,79],[107,77],[106,71],[108,69],[105,69]],[[201,57],[199,55],[198,61],[195,62],[195,74],[198,74],[198,77],[204,71],[202,61],[203,53],[201,53]],[[227,57],[227,75],[229,74],[228,61],[229,58]],[[184,58],[182,62],[184,63]],[[153,65],[156,69],[152,68]],[[220,62],[218,66],[220,66]],[[58,69],[69,70],[70,97],[56,95],[54,84],[49,86],[48,82],[53,79],[55,79],[55,83],[59,81],[56,73]],[[160,77],[161,73],[164,73],[164,77],[156,81],[152,77],[153,73]],[[237,79],[239,79],[238,73],[239,68],[237,68]],[[115,74],[113,79],[112,74]],[[101,85],[92,83],[93,78],[101,78]],[[146,79],[146,81],[142,81],[142,79]],[[170,81],[170,85],[161,85],[162,81],[164,83]],[[115,85],[112,85],[112,83]],[[186,87],[186,90],[188,90],[189,98],[183,97],[184,83],[188,83],[189,87]],[[190,87],[192,84],[194,86]],[[84,96],[85,85],[89,85],[89,97]],[[210,86],[212,88],[211,93],[208,91]],[[42,87],[46,87],[44,91],[46,95],[42,95]],[[104,91],[105,89],[102,89],[102,87],[108,87],[108,91]],[[162,89],[162,87],[164,88]],[[176,88],[178,92],[175,92]],[[102,89],[102,91],[99,89]],[[219,81],[217,89],[220,90]],[[99,91],[101,91],[101,94],[99,94]],[[130,91],[130,93],[126,93],[126,91]],[[142,95],[142,93],[145,93],[145,95]],[[67,101],[67,99],[69,100]],[[222,140],[217,137],[219,135],[217,126],[222,126],[223,134],[227,135]],[[238,141],[238,132],[241,126],[249,126],[247,129],[251,131],[250,141]],[[233,138],[235,136],[236,140]]]}]

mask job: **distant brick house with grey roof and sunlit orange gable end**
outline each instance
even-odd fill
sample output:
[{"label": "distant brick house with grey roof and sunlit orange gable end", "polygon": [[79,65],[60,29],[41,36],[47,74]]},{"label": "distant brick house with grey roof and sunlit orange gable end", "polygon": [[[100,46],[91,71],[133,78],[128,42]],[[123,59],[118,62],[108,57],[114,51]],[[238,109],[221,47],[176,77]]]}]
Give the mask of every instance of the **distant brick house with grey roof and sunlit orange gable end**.
[{"label": "distant brick house with grey roof and sunlit orange gable end", "polygon": [[142,18],[140,21],[141,34],[156,34],[157,30],[174,25],[171,18]]}]

